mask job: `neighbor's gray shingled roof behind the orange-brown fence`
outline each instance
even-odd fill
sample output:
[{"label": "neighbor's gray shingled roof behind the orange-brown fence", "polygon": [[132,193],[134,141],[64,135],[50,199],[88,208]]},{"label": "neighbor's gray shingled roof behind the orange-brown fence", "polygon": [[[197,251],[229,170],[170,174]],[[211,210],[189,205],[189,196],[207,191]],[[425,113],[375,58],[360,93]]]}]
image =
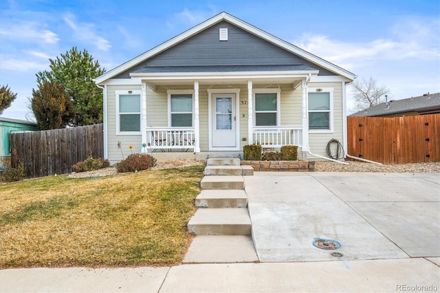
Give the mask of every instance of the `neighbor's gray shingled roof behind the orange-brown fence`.
[{"label": "neighbor's gray shingled roof behind the orange-brown fence", "polygon": [[412,98],[406,98],[403,100],[391,100],[388,102],[389,107],[387,107],[386,102],[382,102],[379,105],[370,107],[359,111],[357,113],[351,114],[350,116],[387,116],[398,113],[406,112],[428,112],[433,110],[440,111],[440,93],[437,94],[426,94],[423,96],[417,96]]}]

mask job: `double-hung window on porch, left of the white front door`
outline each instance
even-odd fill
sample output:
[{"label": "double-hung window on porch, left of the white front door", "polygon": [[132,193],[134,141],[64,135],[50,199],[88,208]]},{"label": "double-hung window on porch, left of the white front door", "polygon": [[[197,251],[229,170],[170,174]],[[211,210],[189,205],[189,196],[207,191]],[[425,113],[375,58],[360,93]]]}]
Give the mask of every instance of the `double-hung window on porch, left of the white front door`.
[{"label": "double-hung window on porch, left of the white front door", "polygon": [[188,91],[168,92],[168,125],[170,127],[192,127],[192,93]]}]

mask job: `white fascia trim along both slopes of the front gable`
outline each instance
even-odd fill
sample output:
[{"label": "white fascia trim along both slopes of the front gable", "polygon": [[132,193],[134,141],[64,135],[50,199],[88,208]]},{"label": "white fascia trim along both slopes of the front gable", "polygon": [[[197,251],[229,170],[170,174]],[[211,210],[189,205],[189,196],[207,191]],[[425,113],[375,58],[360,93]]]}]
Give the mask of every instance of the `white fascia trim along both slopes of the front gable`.
[{"label": "white fascia trim along both slopes of the front gable", "polygon": [[232,17],[232,15],[227,14],[225,12],[222,12],[220,14],[217,14],[216,16],[208,19],[207,21],[203,21],[203,23],[200,23],[199,25],[196,25],[193,28],[190,28],[186,32],[183,32],[179,34],[178,36],[175,36],[173,39],[170,39],[160,45],[157,45],[153,49],[145,52],[144,54],[141,54],[130,61],[127,61],[126,63],[115,67],[114,69],[109,70],[109,72],[106,72],[105,74],[102,74],[102,76],[99,76],[95,79],[96,84],[103,83],[105,80],[112,78],[113,76],[116,76],[127,69],[144,62],[146,59],[151,58],[151,56],[154,56],[156,54],[159,54],[160,52],[163,52],[167,50],[169,47],[172,47],[173,45],[176,45],[177,43],[180,43],[181,41],[184,41],[190,36],[193,36],[202,30],[205,30],[206,28],[209,28],[210,26],[219,23],[220,21],[229,21],[230,23],[238,26],[239,28],[242,28],[243,30],[246,30],[250,32],[251,34],[255,34],[256,36],[261,37],[261,39],[265,39],[266,41],[269,41],[270,43],[274,43],[275,45],[278,45],[279,47],[282,47],[283,49],[292,52],[298,56],[301,56],[312,63],[316,63],[320,65],[321,67],[324,67],[326,69],[329,69],[331,72],[335,72],[336,74],[340,74],[346,78],[349,78],[349,80],[354,80],[357,76],[345,69],[342,69],[341,67],[338,67],[337,65],[334,65],[333,63],[330,63],[329,61],[325,61],[322,58],[319,58],[318,56],[315,56],[314,54],[311,54],[305,50],[300,49],[299,47],[296,47],[295,45],[292,45],[291,43],[287,43],[286,41],[283,41],[281,39],[278,39],[276,36],[272,36],[272,34],[268,34],[267,32],[260,30],[259,28],[254,27],[253,25],[250,25],[248,23],[245,23],[244,21],[241,21],[240,19],[237,19],[236,17]]}]

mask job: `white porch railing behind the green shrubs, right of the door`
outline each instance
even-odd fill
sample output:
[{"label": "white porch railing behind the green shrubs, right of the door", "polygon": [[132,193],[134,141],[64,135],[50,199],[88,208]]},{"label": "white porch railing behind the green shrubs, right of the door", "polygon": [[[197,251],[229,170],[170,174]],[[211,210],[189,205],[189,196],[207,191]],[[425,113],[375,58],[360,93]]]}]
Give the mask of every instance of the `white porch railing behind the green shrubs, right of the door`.
[{"label": "white porch railing behind the green shrubs, right of the door", "polygon": [[280,148],[289,144],[303,146],[303,127],[253,127],[252,141],[263,148]]}]

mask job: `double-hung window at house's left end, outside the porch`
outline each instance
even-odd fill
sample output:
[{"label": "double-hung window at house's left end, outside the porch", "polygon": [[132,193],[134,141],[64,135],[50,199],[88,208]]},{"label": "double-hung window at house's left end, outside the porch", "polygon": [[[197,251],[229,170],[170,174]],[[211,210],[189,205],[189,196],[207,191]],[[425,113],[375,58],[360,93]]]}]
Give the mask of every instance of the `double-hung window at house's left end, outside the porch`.
[{"label": "double-hung window at house's left end, outside the porch", "polygon": [[117,91],[117,123],[119,134],[140,132],[140,92]]}]

